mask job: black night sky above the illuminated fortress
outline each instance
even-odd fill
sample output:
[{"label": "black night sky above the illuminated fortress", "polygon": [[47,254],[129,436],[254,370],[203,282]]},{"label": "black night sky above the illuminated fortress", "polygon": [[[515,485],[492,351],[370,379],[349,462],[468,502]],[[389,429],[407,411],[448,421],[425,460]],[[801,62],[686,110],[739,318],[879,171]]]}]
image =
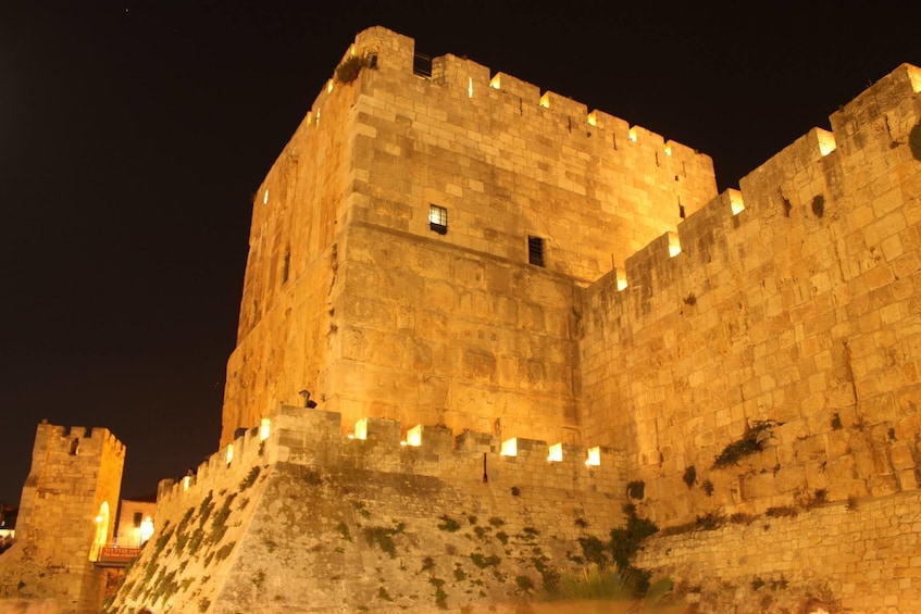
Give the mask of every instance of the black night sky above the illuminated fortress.
[{"label": "black night sky above the illuminated fortress", "polygon": [[216,449],[250,195],[368,26],[692,146],[721,189],[921,64],[917,1],[700,4],[0,2],[0,500],[41,418],[112,430],[124,497]]}]

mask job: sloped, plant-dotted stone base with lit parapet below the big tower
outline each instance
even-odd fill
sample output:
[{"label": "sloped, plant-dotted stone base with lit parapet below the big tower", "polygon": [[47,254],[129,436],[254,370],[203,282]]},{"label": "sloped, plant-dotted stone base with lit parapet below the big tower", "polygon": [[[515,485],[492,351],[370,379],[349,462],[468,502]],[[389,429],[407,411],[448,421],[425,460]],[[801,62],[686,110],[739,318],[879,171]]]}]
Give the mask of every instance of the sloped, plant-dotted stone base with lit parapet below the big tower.
[{"label": "sloped, plant-dotted stone base with lit parapet below the big tower", "polygon": [[501,455],[473,431],[420,427],[401,444],[394,421],[341,430],[337,414],[281,408],[229,462],[225,448],[161,483],[157,532],[109,611],[513,611],[576,565],[580,537],[623,522],[611,450],[550,462],[543,441]]}]

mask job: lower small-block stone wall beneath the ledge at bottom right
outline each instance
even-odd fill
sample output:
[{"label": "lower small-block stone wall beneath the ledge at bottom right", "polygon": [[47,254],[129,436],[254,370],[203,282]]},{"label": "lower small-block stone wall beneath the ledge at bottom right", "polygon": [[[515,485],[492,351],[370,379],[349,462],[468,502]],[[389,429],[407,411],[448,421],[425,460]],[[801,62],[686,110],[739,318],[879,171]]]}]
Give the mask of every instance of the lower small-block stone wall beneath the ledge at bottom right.
[{"label": "lower small-block stone wall beneath the ledge at bottom right", "polygon": [[637,563],[708,612],[921,611],[917,490],[655,537]]}]

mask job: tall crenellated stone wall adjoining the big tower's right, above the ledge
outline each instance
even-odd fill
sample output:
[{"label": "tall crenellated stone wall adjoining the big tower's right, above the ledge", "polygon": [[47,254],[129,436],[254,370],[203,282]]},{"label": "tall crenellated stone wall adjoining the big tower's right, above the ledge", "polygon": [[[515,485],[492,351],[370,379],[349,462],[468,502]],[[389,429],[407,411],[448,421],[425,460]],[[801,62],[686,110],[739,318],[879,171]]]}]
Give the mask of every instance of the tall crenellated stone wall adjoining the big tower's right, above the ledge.
[{"label": "tall crenellated stone wall adjoining the big tower's right, above the ledge", "polygon": [[583,428],[660,524],[918,488],[919,89],[900,66],[586,290]]}]

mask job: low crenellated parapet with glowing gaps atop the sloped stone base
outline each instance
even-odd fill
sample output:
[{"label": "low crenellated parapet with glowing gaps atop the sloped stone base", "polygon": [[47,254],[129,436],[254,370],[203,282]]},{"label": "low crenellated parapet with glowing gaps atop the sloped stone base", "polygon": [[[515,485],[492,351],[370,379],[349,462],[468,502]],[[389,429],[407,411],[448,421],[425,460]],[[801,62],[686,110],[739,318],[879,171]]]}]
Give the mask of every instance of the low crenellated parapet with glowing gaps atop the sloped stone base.
[{"label": "low crenellated parapet with glowing gaps atop the sloped stone base", "polygon": [[[253,467],[293,463],[319,469],[373,471],[508,487],[618,492],[625,485],[620,453],[611,448],[548,444],[445,426],[403,429],[398,421],[368,417],[343,435],[341,416],[282,405],[202,462],[192,475],[161,480],[158,504],[171,505],[244,479]],[[223,485],[223,486],[222,486]]]}]

